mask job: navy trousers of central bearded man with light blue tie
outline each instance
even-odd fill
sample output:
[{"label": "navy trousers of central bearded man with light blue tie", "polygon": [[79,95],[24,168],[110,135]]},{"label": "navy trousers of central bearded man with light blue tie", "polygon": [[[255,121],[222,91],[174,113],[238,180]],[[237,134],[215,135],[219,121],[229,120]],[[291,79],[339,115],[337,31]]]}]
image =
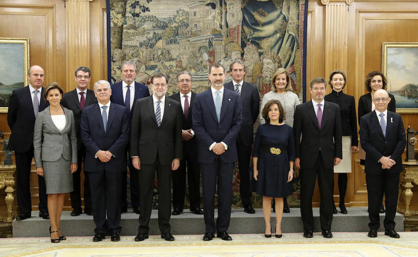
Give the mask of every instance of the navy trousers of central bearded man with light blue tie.
[{"label": "navy trousers of central bearded man with light blue tie", "polygon": [[[215,233],[215,231],[224,232],[228,230],[231,218],[233,169],[234,162],[223,162],[219,156],[215,157],[210,164],[200,164],[203,184],[203,214],[206,231],[208,232]],[[215,225],[215,192],[217,186],[218,218]]]}]

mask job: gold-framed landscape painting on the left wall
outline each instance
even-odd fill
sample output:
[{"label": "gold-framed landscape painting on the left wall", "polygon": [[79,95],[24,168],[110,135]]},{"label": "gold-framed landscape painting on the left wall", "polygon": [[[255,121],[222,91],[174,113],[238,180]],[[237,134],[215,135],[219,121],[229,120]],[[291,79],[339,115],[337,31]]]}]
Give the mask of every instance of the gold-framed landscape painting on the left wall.
[{"label": "gold-framed landscape painting on the left wall", "polygon": [[0,113],[7,113],[12,91],[29,84],[29,39],[0,38]]}]

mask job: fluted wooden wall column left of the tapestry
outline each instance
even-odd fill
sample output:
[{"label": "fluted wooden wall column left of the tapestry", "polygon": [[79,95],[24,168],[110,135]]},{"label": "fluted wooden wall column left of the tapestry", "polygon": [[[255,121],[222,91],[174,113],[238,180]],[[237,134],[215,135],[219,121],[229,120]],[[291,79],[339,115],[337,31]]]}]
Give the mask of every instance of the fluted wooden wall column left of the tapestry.
[{"label": "fluted wooden wall column left of the tapestry", "polygon": [[63,0],[66,15],[66,85],[74,87],[77,67],[90,67],[90,8],[93,0]]}]

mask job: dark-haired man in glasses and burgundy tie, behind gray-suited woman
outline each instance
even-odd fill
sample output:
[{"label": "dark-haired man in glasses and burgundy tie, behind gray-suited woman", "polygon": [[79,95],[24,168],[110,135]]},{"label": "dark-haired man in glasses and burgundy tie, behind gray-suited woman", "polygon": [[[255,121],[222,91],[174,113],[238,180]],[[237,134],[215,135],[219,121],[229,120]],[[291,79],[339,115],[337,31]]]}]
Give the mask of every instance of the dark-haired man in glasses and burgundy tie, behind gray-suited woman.
[{"label": "dark-haired man in glasses and burgundy tie, behind gray-suited woman", "polygon": [[[77,171],[73,173],[74,191],[70,192],[71,196],[71,216],[79,216],[82,213],[81,208],[81,170],[82,162],[86,159],[86,147],[81,140],[81,115],[84,107],[97,103],[97,99],[94,96],[94,91],[89,90],[91,72],[88,67],[78,67],[74,74],[74,80],[76,82],[76,88],[64,94],[61,100],[61,105],[67,109],[73,111],[74,120],[77,132],[77,156],[78,165]],[[84,213],[87,215],[93,215],[92,212],[92,198],[90,194],[90,184],[87,173],[84,172]]]}]

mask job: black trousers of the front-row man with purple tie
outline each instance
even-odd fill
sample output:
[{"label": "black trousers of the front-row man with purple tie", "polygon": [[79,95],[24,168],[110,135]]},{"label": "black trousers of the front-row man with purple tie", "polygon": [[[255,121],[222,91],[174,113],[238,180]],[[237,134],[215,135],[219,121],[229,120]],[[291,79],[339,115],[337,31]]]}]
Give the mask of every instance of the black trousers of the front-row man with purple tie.
[{"label": "black trousers of the front-row man with purple tie", "polygon": [[[301,159],[301,163],[303,160]],[[314,193],[316,175],[318,175],[319,193],[321,203],[319,206],[319,218],[321,230],[331,230],[334,189],[334,169],[325,167],[321,151],[318,154],[314,167],[300,172],[301,180],[301,216],[304,230],[314,230],[314,216],[312,214],[312,195]]]}]

